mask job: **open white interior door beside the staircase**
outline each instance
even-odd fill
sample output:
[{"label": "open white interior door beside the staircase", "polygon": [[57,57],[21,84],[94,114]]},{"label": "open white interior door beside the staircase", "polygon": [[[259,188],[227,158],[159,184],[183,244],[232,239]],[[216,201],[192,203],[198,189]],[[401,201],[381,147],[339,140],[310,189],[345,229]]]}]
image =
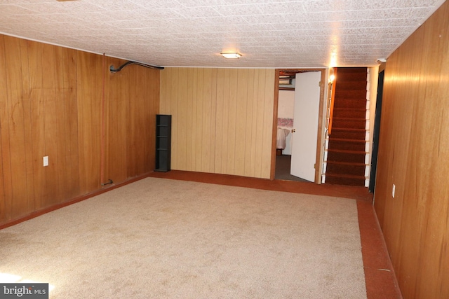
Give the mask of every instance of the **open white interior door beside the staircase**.
[{"label": "open white interior door beside the staircase", "polygon": [[315,181],[321,72],[297,73],[290,174]]}]

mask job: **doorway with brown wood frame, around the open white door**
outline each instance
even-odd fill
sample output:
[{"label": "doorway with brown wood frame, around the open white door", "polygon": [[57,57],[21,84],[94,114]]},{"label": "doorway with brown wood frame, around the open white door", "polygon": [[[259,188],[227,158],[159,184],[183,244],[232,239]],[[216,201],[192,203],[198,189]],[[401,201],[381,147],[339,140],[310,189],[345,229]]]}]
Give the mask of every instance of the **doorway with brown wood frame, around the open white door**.
[{"label": "doorway with brown wood frame, around the open white door", "polygon": [[[295,78],[296,74],[299,73],[319,73],[319,107],[318,107],[318,130],[316,134],[316,149],[314,149],[315,160],[314,165],[312,165],[312,179],[309,181],[314,181],[314,183],[321,183],[321,173],[323,171],[322,168],[322,160],[323,160],[323,142],[324,142],[324,126],[325,119],[323,116],[326,116],[325,113],[325,101],[324,96],[325,92],[327,92],[327,84],[323,84],[326,81],[327,69],[276,69],[276,82],[275,82],[275,99],[274,99],[274,142],[272,148],[272,179],[281,179],[284,181],[307,181],[305,179],[301,179],[300,177],[293,176],[290,174],[290,165],[291,165],[291,142],[293,129],[293,119],[289,118],[293,115],[291,114],[291,107],[286,107],[285,97],[287,97],[287,101],[291,101],[294,96],[291,94],[295,93]],[[316,82],[318,84],[318,82]],[[288,95],[288,96],[286,96]],[[289,103],[287,103],[287,106]],[[280,114],[279,114],[280,113]],[[289,114],[290,113],[290,114]],[[284,117],[285,116],[285,117]],[[279,139],[278,132],[282,133],[281,130],[284,130],[286,133],[286,148],[284,150],[279,151]],[[313,142],[313,141],[312,141]],[[312,146],[315,146],[312,144]],[[293,153],[294,155],[294,153]],[[314,168],[313,168],[314,167]]]}]

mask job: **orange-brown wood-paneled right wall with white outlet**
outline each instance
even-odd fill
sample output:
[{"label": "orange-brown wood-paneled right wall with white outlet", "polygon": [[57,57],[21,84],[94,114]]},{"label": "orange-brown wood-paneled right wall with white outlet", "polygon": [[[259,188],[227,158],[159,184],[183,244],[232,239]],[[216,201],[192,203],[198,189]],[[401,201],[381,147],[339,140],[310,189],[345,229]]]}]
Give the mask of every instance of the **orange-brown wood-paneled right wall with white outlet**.
[{"label": "orange-brown wood-paneled right wall with white outlet", "polygon": [[448,1],[387,61],[379,145],[375,211],[403,297],[449,298]]}]

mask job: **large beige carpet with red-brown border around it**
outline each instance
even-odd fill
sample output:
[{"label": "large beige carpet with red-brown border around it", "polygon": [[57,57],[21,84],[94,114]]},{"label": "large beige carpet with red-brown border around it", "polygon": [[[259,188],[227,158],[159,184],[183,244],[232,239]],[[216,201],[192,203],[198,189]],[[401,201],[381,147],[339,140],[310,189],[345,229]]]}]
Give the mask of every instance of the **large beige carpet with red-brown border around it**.
[{"label": "large beige carpet with red-brown border around it", "polygon": [[355,200],[147,178],[0,230],[51,298],[366,298]]}]

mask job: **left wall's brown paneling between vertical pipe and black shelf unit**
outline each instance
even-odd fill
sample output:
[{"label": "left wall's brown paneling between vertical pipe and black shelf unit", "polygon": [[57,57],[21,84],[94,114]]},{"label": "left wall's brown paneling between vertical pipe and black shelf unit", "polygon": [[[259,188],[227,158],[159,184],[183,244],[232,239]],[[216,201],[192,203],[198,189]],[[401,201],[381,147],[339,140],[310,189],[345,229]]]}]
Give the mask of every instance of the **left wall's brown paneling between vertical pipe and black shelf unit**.
[{"label": "left wall's brown paneling between vertical pipe and black shelf unit", "polygon": [[[108,58],[105,67],[118,67],[124,62]],[[106,77],[103,183],[109,179],[121,183],[154,169],[159,71],[130,65],[118,73],[107,71]]]}]

